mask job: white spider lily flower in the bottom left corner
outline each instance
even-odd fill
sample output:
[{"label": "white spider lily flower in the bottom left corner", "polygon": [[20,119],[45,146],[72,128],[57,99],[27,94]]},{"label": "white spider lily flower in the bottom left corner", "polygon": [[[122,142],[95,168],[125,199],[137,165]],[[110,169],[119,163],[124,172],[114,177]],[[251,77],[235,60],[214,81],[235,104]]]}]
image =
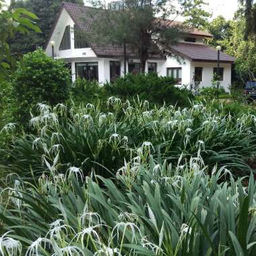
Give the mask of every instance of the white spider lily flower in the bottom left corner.
[{"label": "white spider lily flower in the bottom left corner", "polygon": [[6,232],[3,236],[0,236],[0,254],[6,256],[16,256],[22,254],[22,244],[20,241],[11,237],[7,237]]}]

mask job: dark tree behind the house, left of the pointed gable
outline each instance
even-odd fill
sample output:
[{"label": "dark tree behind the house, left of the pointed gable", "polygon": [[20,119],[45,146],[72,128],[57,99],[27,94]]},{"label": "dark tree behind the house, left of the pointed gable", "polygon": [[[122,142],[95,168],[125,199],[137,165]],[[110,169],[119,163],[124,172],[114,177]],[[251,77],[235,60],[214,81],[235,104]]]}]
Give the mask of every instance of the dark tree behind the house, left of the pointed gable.
[{"label": "dark tree behind the house, left of the pointed gable", "polygon": [[[11,45],[11,53],[24,54],[36,50],[39,46],[44,46],[49,34],[53,29],[53,24],[57,19],[62,0],[18,0],[13,3],[12,8],[26,8],[28,11],[35,13],[38,17],[38,26],[42,30],[41,34],[30,33],[25,38],[21,34],[17,34],[13,40],[9,42]],[[71,3],[84,4],[83,0],[69,0]]]}]

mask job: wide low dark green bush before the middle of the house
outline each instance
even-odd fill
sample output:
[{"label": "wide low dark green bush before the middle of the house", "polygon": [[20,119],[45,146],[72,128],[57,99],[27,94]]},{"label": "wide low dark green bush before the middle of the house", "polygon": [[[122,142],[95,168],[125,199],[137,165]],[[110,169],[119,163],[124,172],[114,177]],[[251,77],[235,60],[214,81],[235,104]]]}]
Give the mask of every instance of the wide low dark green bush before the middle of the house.
[{"label": "wide low dark green bush before the middle of the house", "polygon": [[148,100],[151,104],[177,104],[189,106],[189,99],[193,94],[189,90],[179,89],[174,86],[172,77],[158,77],[156,73],[119,77],[113,84],[106,84],[109,95],[119,96],[123,99],[131,99],[139,96],[141,100]]}]

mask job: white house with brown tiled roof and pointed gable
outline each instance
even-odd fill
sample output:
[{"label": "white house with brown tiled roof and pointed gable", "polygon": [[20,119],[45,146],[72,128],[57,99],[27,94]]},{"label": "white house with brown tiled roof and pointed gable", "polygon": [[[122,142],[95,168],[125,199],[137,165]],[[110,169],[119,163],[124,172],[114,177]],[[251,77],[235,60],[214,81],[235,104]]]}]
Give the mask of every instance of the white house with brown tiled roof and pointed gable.
[{"label": "white house with brown tiled roof and pointed gable", "polygon": [[[63,59],[71,68],[72,80],[77,76],[97,79],[104,83],[122,75],[124,71],[123,47],[113,44],[95,44],[86,41],[84,35],[92,24],[92,7],[73,3],[63,3],[55,26],[46,44],[46,54],[55,59]],[[95,9],[94,9],[95,10]],[[83,33],[79,33],[82,31]],[[170,46],[173,54],[166,56],[152,43],[146,72],[156,71],[158,75],[173,76],[178,84],[189,85],[200,82],[200,86],[212,85],[212,77],[217,71],[217,51],[203,43],[211,34],[197,29],[178,43]],[[53,49],[54,42],[54,49]],[[220,52],[221,86],[228,90],[231,84],[231,65],[234,57]],[[127,49],[127,71],[139,70],[138,55]]]}]

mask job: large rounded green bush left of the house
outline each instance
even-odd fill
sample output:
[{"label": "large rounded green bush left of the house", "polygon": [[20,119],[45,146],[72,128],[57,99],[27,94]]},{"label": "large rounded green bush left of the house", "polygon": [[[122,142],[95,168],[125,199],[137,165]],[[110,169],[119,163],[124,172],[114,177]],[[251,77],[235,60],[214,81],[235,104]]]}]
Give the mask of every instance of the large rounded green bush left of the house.
[{"label": "large rounded green bush left of the house", "polygon": [[63,61],[47,57],[42,49],[24,55],[13,77],[13,93],[18,102],[16,115],[21,123],[39,102],[54,105],[69,95],[69,70]]}]

